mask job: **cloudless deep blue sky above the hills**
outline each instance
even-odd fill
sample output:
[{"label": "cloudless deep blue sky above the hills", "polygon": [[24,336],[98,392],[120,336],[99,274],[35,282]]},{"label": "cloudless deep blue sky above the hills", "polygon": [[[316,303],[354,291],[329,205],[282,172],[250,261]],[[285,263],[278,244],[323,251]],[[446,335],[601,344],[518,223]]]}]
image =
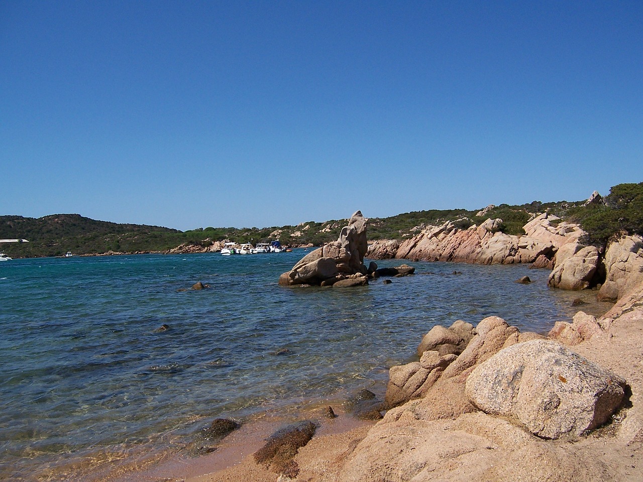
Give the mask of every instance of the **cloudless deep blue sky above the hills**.
[{"label": "cloudless deep blue sky above the hills", "polygon": [[181,230],[643,181],[643,1],[0,2],[0,215]]}]

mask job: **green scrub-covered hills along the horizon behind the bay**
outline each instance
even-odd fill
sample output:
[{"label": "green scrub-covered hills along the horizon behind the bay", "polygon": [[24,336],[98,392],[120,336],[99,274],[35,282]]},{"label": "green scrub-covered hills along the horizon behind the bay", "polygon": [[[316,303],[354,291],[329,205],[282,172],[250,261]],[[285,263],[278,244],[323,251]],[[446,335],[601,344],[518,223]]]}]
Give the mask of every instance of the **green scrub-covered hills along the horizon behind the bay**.
[{"label": "green scrub-covered hills along the horizon behind the bay", "polygon": [[[523,235],[523,226],[536,213],[549,213],[578,222],[588,231],[588,242],[601,243],[621,232],[643,234],[643,183],[618,184],[604,197],[604,204],[584,205],[583,201],[540,202],[520,206],[489,206],[482,211],[427,210],[413,211],[386,218],[368,220],[371,240],[412,237],[426,226],[447,220],[457,221],[466,229],[489,218],[503,220],[502,231]],[[0,250],[9,256],[37,257],[109,252],[165,252],[179,245],[209,246],[212,242],[231,240],[239,243],[279,240],[283,245],[321,245],[336,240],[346,220],[303,222],[298,226],[271,228],[199,228],[190,231],[96,221],[77,214],[59,214],[39,219],[0,216],[0,238],[24,238],[28,243],[3,244]]]}]

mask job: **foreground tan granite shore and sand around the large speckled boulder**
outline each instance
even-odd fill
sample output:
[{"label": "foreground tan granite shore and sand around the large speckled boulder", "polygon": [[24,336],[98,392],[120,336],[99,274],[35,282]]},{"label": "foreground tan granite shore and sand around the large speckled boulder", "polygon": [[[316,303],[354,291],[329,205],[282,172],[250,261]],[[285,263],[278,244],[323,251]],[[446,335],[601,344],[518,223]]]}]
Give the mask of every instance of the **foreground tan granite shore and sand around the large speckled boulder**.
[{"label": "foreground tan granite shore and sand around the large speckled boulder", "polygon": [[[643,287],[598,319],[574,317],[568,329],[579,336],[559,328],[546,338],[520,334],[498,317],[463,325],[434,328],[442,337],[421,340],[419,362],[392,368],[394,385],[396,371],[417,368],[406,380],[419,370],[428,371],[427,379],[440,376],[424,393],[407,390],[408,401],[392,403],[387,392],[395,407],[375,425],[312,436],[291,464],[279,465],[287,470],[249,455],[180,480],[640,480]],[[472,336],[458,346],[444,330]]]}]

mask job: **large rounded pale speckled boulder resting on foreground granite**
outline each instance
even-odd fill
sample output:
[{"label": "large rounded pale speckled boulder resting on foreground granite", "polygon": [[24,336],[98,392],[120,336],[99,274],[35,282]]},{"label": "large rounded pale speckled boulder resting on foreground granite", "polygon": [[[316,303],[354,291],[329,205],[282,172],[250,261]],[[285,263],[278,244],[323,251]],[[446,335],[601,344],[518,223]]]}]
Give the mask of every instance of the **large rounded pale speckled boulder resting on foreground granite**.
[{"label": "large rounded pale speckled boulder resting on foreground granite", "polygon": [[607,422],[622,406],[626,382],[559,343],[534,340],[478,365],[467,377],[466,393],[485,413],[553,439]]}]

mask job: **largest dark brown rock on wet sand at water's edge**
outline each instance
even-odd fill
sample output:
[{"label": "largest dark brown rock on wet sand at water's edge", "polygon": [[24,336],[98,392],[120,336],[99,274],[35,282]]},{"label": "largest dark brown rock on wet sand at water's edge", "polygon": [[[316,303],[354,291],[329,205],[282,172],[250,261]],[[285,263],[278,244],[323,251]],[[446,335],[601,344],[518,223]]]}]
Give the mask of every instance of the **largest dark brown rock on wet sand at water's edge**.
[{"label": "largest dark brown rock on wet sand at water's edge", "polygon": [[298,467],[293,466],[292,459],[311,440],[316,428],[309,420],[287,425],[272,434],[253,457],[257,463],[271,465],[275,472],[296,475]]}]

